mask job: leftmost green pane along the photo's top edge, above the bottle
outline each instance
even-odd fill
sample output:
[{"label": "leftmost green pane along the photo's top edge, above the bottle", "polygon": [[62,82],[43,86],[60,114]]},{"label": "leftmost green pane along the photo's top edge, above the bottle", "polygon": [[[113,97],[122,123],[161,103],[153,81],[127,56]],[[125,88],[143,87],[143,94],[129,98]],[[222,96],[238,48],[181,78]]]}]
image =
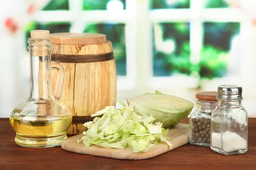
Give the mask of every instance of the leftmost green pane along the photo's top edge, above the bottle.
[{"label": "leftmost green pane along the photo's top edge, above the bottle", "polygon": [[46,6],[42,9],[43,11],[49,10],[68,10],[68,0],[51,0],[47,3]]}]

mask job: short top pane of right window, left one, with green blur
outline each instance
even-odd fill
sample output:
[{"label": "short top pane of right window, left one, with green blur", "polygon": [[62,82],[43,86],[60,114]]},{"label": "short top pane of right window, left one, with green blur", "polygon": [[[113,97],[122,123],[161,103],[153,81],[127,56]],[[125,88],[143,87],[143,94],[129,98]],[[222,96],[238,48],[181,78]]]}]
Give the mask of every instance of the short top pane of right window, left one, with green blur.
[{"label": "short top pane of right window, left one, with green blur", "polygon": [[150,0],[151,9],[189,8],[189,0]]}]

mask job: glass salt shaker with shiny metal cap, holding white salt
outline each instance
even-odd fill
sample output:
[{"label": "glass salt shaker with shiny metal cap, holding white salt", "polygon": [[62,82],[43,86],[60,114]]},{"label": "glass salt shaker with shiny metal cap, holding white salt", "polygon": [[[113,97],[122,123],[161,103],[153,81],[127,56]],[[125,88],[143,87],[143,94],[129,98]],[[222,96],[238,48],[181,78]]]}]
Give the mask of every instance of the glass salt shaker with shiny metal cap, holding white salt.
[{"label": "glass salt shaker with shiny metal cap, holding white salt", "polygon": [[211,149],[224,155],[247,151],[248,116],[242,106],[242,87],[218,86],[218,105],[212,111]]}]

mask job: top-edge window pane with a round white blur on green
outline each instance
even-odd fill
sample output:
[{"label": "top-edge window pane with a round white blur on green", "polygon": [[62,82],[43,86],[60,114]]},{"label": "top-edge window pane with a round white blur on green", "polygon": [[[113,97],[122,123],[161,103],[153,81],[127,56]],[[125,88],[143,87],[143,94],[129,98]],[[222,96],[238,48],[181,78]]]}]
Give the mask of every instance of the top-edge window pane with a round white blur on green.
[{"label": "top-edge window pane with a round white blur on green", "polygon": [[125,9],[125,0],[84,0],[84,10],[122,10]]}]

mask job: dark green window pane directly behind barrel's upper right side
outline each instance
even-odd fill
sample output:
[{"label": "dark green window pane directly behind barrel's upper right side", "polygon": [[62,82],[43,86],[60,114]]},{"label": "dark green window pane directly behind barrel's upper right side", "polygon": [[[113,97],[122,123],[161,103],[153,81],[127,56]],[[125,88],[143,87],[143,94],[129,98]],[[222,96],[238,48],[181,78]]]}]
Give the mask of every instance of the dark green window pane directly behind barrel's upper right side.
[{"label": "dark green window pane directly behind barrel's upper right side", "polygon": [[105,34],[113,45],[117,75],[126,75],[125,24],[88,24],[84,32]]}]

